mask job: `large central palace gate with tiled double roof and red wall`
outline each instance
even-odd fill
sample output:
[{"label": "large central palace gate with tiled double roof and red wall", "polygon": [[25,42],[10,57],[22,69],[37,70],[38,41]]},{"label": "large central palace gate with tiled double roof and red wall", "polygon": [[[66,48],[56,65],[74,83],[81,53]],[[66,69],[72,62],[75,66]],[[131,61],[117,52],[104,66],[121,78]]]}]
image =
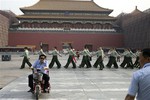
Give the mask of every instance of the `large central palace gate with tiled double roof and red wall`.
[{"label": "large central palace gate with tiled double roof and red wall", "polygon": [[81,50],[102,47],[122,47],[123,34],[113,27],[113,11],[98,6],[93,0],[40,0],[20,10],[18,25],[9,31],[9,45],[30,45],[44,50],[72,45]]}]

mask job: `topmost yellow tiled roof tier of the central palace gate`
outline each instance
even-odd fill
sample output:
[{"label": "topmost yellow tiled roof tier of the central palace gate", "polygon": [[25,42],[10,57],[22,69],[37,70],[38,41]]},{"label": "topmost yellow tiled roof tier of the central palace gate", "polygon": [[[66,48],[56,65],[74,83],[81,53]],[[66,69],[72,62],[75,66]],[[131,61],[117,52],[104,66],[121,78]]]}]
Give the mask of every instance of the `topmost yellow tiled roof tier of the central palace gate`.
[{"label": "topmost yellow tiled roof tier of the central palace gate", "polygon": [[108,11],[112,12],[111,9],[106,9],[98,6],[93,0],[92,1],[79,1],[79,0],[40,0],[36,4],[20,8],[21,10],[71,10],[71,11]]}]

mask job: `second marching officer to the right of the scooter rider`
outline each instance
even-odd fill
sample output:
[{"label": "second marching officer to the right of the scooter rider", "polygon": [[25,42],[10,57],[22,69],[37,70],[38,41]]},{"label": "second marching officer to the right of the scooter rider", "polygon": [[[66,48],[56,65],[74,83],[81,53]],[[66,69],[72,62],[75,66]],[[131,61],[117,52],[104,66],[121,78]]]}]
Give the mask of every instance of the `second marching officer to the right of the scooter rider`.
[{"label": "second marching officer to the right of the scooter rider", "polygon": [[75,50],[73,50],[73,48],[70,47],[67,54],[69,54],[69,58],[68,58],[66,65],[64,66],[64,68],[68,68],[70,63],[72,63],[72,65],[73,65],[72,68],[76,68],[76,64],[74,62],[74,57],[76,56]]}]

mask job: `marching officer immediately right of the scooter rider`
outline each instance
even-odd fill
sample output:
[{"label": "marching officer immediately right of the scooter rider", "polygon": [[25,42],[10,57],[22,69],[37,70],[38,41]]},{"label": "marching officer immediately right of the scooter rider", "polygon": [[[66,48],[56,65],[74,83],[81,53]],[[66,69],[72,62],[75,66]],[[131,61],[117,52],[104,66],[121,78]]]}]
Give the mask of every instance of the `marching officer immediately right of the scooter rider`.
[{"label": "marching officer immediately right of the scooter rider", "polygon": [[52,53],[50,53],[50,55],[53,55],[53,57],[52,57],[51,63],[49,64],[49,68],[52,68],[55,62],[57,64],[57,68],[58,69],[61,68],[61,64],[60,64],[60,62],[58,60],[58,56],[57,56],[57,55],[59,55],[61,57],[61,54],[58,52],[57,47],[53,48],[53,51],[52,51]]}]

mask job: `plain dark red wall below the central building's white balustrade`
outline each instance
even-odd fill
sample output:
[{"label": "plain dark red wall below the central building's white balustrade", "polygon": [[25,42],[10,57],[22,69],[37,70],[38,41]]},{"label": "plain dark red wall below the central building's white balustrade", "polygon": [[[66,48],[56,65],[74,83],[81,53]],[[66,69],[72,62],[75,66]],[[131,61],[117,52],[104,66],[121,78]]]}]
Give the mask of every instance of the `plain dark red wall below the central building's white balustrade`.
[{"label": "plain dark red wall below the central building's white balustrade", "polygon": [[39,48],[40,42],[49,44],[49,49],[57,46],[62,49],[62,42],[72,42],[75,49],[82,50],[85,44],[92,44],[93,50],[102,47],[123,47],[123,35],[116,33],[27,33],[10,32],[9,46],[36,45]]}]

